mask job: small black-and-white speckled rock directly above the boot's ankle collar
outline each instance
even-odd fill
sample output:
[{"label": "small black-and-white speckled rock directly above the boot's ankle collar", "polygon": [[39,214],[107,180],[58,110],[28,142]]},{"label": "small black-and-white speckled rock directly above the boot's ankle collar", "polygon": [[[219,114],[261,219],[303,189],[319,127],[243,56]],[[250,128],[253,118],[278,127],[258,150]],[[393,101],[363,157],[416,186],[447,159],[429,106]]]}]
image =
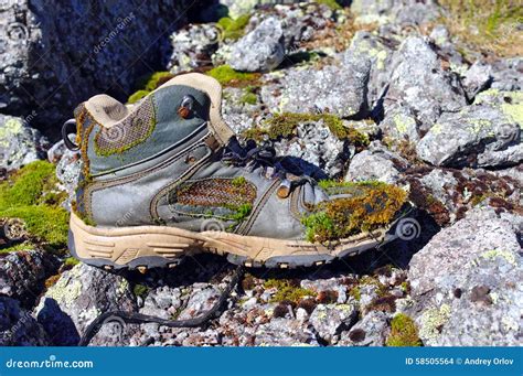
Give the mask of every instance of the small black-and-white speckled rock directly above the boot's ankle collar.
[{"label": "small black-and-white speckled rock directly above the boot's ankle collar", "polygon": [[168,69],[178,74],[211,64],[221,32],[214,24],[190,24],[171,35],[172,54]]}]

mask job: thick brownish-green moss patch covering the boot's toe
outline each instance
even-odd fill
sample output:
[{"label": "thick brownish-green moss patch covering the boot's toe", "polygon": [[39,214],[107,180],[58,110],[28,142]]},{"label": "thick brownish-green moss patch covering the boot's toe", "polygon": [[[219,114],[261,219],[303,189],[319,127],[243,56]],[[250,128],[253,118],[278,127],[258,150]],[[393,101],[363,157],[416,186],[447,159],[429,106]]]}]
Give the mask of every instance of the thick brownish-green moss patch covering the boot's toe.
[{"label": "thick brownish-green moss patch covering the boot's toe", "polygon": [[338,240],[386,226],[407,198],[401,187],[381,182],[324,182],[320,186],[331,195],[344,196],[316,205],[302,218],[309,241]]}]

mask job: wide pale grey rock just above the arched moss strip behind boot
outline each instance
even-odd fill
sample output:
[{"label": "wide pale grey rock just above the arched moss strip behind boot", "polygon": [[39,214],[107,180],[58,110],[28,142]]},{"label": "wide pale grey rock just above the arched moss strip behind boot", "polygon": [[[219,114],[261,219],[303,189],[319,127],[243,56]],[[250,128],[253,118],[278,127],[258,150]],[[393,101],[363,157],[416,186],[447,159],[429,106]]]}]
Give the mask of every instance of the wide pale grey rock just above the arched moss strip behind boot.
[{"label": "wide pale grey rock just above the arched moss strip behind boot", "polygon": [[279,85],[262,88],[262,98],[269,108],[279,111],[363,116],[367,110],[370,69],[371,62],[359,56],[348,57],[341,66],[328,65],[320,71],[288,69]]}]

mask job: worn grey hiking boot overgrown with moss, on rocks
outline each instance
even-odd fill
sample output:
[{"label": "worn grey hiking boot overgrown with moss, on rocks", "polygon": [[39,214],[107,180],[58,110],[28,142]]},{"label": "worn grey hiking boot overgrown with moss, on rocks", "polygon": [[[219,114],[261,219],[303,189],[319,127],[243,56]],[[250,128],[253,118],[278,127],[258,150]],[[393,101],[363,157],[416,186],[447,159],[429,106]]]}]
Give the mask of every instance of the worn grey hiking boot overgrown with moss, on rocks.
[{"label": "worn grey hiking boot overgrown with moss, on rocks", "polygon": [[238,143],[221,96],[214,78],[186,74],[134,106],[106,95],[78,106],[76,142],[65,137],[83,160],[70,232],[77,258],[143,271],[205,251],[291,268],[396,236],[402,189],[291,173],[299,166],[274,149]]}]

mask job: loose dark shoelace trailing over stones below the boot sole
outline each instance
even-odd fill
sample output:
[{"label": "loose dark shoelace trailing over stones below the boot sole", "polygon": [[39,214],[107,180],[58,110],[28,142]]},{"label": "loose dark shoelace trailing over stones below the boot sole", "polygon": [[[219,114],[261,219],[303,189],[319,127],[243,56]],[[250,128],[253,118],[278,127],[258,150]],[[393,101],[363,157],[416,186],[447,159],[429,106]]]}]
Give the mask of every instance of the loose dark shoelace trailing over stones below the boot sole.
[{"label": "loose dark shoelace trailing over stones below the boot sole", "polygon": [[[244,275],[244,270],[245,269],[243,266],[238,266],[236,268],[236,270],[234,271],[231,278],[231,281],[220,294],[220,298],[216,301],[216,303],[209,311],[206,311],[205,313],[203,313],[202,315],[198,318],[188,319],[188,320],[167,320],[167,319],[136,313],[136,312],[126,312],[126,311],[119,311],[119,310],[108,311],[98,315],[87,326],[82,339],[78,342],[78,346],[87,346],[93,340],[93,337],[96,335],[96,333],[99,332],[102,326],[105,323],[110,323],[110,322],[119,322],[120,324],[121,323],[126,323],[126,324],[157,323],[157,324],[168,326],[168,327],[203,326],[206,322],[209,322],[212,319],[215,319],[222,312],[222,309],[227,298],[231,296],[231,292],[234,290],[234,288],[238,284],[239,280],[242,279]],[[146,343],[143,343],[142,345],[147,345],[147,344],[150,344],[150,343],[146,341]]]}]

